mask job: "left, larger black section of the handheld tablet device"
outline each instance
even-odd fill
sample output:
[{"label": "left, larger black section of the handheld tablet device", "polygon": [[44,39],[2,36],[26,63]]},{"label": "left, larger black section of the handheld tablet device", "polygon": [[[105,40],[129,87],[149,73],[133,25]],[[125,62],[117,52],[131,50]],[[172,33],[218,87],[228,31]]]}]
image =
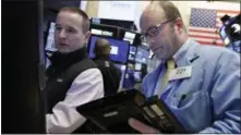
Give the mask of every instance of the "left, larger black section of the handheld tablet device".
[{"label": "left, larger black section of the handheld tablet device", "polygon": [[145,96],[137,90],[120,91],[116,95],[77,107],[77,111],[94,122],[105,133],[134,133],[128,124],[130,116],[142,119]]}]

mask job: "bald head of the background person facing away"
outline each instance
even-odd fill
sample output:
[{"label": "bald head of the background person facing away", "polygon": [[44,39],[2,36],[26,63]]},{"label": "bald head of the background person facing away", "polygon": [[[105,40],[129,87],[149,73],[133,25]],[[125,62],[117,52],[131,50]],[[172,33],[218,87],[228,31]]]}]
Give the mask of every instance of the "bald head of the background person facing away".
[{"label": "bald head of the background person facing away", "polygon": [[109,57],[110,54],[110,45],[107,39],[100,38],[95,42],[94,52],[96,57]]}]

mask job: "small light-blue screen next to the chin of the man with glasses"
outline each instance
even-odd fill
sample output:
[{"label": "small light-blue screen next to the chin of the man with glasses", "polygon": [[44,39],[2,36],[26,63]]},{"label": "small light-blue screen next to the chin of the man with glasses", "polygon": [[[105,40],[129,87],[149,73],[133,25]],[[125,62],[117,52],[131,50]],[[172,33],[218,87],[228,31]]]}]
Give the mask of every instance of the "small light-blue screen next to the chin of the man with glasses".
[{"label": "small light-blue screen next to the chin of the man with glasses", "polygon": [[135,61],[140,63],[147,63],[149,52],[143,48],[137,48],[136,56],[135,56]]}]

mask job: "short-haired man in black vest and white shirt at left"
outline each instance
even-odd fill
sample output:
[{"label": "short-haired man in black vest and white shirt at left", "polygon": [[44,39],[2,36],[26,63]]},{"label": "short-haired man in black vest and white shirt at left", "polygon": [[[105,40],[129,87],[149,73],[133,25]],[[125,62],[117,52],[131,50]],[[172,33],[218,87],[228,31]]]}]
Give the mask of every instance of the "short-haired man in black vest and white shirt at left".
[{"label": "short-haired man in black vest and white shirt at left", "polygon": [[47,133],[72,133],[86,121],[76,107],[104,97],[104,82],[87,58],[89,20],[77,8],[63,8],[57,15],[55,42],[47,70]]}]

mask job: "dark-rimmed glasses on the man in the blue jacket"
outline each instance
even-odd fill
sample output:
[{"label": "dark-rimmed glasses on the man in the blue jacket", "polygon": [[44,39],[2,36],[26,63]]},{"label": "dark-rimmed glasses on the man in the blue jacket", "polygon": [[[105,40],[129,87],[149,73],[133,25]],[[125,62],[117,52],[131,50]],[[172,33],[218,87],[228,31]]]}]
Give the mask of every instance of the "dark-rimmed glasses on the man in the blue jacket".
[{"label": "dark-rimmed glasses on the man in the blue jacket", "polygon": [[160,23],[160,24],[158,24],[158,25],[156,25],[156,26],[149,27],[149,28],[146,30],[145,34],[142,34],[142,35],[141,35],[141,40],[142,40],[142,42],[147,42],[147,38],[157,36],[157,35],[159,34],[159,32],[160,32],[161,26],[162,26],[164,24],[168,23],[168,22],[173,21],[173,20],[174,20],[174,19],[171,19],[171,20],[165,21],[165,22],[162,22],[162,23]]}]

